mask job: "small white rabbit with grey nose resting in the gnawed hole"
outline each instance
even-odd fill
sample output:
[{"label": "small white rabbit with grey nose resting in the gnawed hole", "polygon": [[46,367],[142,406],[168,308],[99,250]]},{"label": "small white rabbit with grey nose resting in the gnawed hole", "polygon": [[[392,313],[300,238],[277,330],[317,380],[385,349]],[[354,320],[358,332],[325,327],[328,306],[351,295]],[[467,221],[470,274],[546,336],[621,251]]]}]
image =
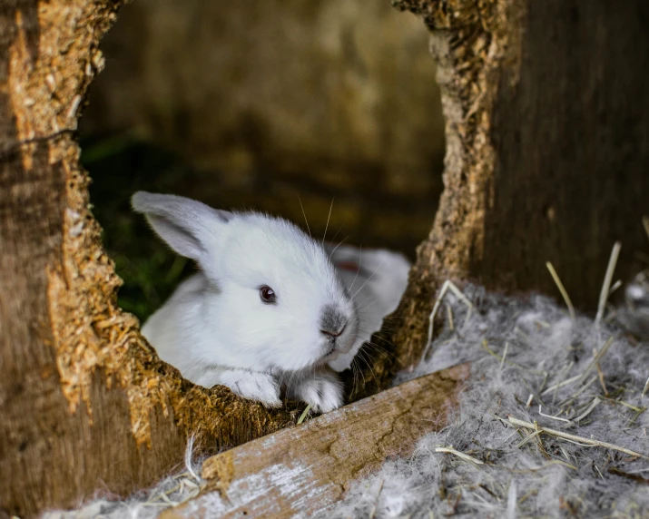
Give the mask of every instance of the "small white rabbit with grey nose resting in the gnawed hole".
[{"label": "small white rabbit with grey nose resting in the gnawed hole", "polygon": [[[377,309],[395,306],[403,289],[386,298],[362,268],[346,286],[320,242],[287,220],[143,191],[132,203],[162,240],[202,269],[143,326],[162,360],[195,384],[221,384],[265,406],[280,406],[282,388],[316,411],[342,405],[342,384],[327,364],[340,358],[334,367],[349,366],[369,338],[366,321],[380,327]],[[349,248],[330,250],[345,266],[356,260],[346,259]],[[369,299],[377,297],[372,308]]]}]

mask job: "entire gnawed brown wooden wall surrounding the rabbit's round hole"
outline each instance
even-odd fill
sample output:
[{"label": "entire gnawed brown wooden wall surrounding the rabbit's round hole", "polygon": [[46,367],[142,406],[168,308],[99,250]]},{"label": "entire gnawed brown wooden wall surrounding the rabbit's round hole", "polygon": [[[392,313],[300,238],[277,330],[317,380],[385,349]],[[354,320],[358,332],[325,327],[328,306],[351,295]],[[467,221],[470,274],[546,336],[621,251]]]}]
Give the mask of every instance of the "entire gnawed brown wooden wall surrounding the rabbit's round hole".
[{"label": "entire gnawed brown wooden wall surrounding the rabbit's round hole", "polygon": [[[192,433],[218,449],[294,418],[193,387],[116,306],[120,280],[89,210],[74,131],[120,4],[0,5],[0,508],[9,514],[149,485]],[[418,360],[444,279],[555,293],[551,260],[575,302],[595,306],[613,241],[633,250],[644,240],[649,187],[649,5],[394,4],[432,31],[446,191],[389,336],[396,359],[378,360],[378,382],[357,397]]]}]

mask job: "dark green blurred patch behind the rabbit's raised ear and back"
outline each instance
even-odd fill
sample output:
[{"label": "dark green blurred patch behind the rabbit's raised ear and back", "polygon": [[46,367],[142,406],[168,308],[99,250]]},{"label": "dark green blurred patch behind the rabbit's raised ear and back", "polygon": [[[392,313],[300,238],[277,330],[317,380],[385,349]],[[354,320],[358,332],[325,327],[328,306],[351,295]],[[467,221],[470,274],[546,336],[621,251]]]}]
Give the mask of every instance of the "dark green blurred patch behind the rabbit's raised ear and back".
[{"label": "dark green blurred patch behind the rabbit's raised ear and back", "polygon": [[82,163],[93,179],[93,214],[124,281],[119,304],[143,320],[195,267],[166,247],[142,215],[133,213],[131,195],[138,190],[173,192],[181,182],[192,181],[195,171],[170,152],[129,135],[88,139],[82,150]]}]

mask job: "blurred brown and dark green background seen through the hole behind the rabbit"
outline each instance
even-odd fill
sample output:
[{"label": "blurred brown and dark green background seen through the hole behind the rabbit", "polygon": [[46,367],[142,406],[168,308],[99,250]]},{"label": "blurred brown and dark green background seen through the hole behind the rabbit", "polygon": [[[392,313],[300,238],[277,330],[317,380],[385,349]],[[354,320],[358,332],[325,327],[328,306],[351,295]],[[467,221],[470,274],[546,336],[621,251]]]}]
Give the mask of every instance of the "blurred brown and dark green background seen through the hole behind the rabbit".
[{"label": "blurred brown and dark green background seen through the hole behind the rabbit", "polygon": [[388,0],[133,0],[103,40],[81,122],[93,212],[124,279],[159,307],[190,261],[134,215],[134,191],[256,209],[314,236],[401,250],[430,230],[444,122],[428,33]]}]

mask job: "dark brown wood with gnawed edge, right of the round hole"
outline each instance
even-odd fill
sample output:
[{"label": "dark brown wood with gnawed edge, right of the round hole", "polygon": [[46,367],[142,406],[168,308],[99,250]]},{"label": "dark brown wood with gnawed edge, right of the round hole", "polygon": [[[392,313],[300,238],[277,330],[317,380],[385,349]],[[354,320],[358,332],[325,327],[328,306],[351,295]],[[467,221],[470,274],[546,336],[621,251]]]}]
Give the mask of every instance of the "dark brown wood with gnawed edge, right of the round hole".
[{"label": "dark brown wood with gnawed edge, right of the round hole", "polygon": [[393,5],[431,30],[447,156],[445,191],[393,319],[397,330],[376,338],[395,344],[398,357],[377,360],[379,384],[395,364],[417,361],[445,279],[558,297],[550,260],[575,305],[592,309],[615,240],[625,252],[617,275],[628,279],[649,211],[649,4]]}]

